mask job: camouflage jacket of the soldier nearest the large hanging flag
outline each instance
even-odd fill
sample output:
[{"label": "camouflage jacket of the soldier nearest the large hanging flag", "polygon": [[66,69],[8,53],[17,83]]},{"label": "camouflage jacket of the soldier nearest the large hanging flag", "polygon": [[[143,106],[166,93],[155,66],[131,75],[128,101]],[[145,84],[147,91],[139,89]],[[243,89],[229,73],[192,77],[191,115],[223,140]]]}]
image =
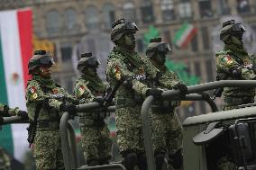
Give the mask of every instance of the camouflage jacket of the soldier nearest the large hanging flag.
[{"label": "camouflage jacket of the soldier nearest the large hanging flag", "polygon": [[52,79],[45,80],[39,76],[33,76],[32,80],[28,81],[26,106],[30,120],[33,121],[37,105],[41,103],[38,121],[59,121],[62,115],[59,106],[67,101],[74,102],[76,98],[65,92]]}]

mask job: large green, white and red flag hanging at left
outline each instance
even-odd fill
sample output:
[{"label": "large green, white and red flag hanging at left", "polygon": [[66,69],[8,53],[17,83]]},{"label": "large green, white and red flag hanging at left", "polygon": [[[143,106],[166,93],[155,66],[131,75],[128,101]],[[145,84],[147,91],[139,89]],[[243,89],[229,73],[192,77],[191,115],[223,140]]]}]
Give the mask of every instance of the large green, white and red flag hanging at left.
[{"label": "large green, white and red flag hanging at left", "polygon": [[[26,111],[25,87],[28,61],[32,57],[32,10],[0,12],[0,103]],[[5,125],[0,146],[18,160],[28,150],[28,124]]]}]

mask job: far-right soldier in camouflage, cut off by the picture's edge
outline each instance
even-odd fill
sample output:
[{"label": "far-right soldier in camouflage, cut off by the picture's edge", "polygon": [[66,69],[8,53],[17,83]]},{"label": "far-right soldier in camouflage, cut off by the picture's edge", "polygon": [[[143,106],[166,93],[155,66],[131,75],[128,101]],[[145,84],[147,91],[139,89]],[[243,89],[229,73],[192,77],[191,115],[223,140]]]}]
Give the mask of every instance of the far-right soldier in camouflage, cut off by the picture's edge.
[{"label": "far-right soldier in camouflage, cut off by the picture's edge", "polygon": [[[220,40],[224,49],[216,53],[216,72],[218,80],[253,80],[253,59],[243,48],[242,34],[245,31],[241,23],[230,20],[223,23]],[[224,110],[235,109],[238,105],[253,103],[255,90],[241,87],[225,87]]]}]

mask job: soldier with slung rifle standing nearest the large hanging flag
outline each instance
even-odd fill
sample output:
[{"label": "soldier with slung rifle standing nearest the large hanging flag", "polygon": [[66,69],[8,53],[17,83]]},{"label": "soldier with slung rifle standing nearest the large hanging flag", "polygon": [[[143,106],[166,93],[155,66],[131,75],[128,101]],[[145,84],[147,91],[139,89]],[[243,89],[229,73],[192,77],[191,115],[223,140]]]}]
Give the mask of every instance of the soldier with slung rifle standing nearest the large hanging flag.
[{"label": "soldier with slung rifle standing nearest the large hanging flag", "polygon": [[[26,88],[29,119],[29,142],[34,143],[33,157],[37,170],[64,170],[59,119],[62,112],[75,114],[75,99],[51,78],[53,58],[45,50],[36,50],[29,60],[32,79]],[[70,101],[72,103],[66,103]]]}]

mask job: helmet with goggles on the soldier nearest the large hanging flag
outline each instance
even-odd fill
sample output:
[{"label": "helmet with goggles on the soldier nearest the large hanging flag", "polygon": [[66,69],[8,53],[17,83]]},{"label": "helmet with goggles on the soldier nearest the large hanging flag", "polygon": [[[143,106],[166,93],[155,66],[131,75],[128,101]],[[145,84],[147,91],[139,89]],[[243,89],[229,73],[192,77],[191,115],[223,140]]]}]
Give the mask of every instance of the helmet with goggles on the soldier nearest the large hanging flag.
[{"label": "helmet with goggles on the soldier nearest the large hanging flag", "polygon": [[51,67],[53,64],[54,60],[49,53],[47,53],[45,50],[35,50],[32,58],[29,60],[29,74],[32,74],[32,71],[37,67]]}]

